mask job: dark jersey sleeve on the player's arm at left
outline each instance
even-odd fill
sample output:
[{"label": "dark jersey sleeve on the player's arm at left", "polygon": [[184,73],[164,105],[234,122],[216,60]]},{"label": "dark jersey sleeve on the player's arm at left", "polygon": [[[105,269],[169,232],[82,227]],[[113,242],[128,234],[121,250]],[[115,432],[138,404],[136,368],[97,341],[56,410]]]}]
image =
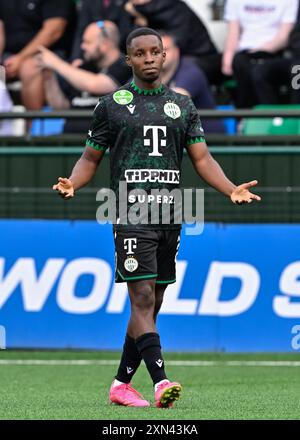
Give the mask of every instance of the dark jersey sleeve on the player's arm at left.
[{"label": "dark jersey sleeve on the player's arm at left", "polygon": [[109,122],[103,98],[95,107],[86,145],[98,151],[105,151],[109,147]]}]

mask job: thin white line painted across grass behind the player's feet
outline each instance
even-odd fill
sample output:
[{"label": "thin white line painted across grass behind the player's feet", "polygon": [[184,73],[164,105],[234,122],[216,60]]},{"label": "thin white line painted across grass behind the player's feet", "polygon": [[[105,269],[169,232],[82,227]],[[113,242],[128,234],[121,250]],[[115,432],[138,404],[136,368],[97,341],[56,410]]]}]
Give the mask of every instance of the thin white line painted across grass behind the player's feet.
[{"label": "thin white line painted across grass behind the player's feet", "polygon": [[[300,361],[175,361],[166,360],[167,365],[177,367],[300,367]],[[0,365],[119,365],[119,360],[45,360],[45,359],[0,359]]]}]

